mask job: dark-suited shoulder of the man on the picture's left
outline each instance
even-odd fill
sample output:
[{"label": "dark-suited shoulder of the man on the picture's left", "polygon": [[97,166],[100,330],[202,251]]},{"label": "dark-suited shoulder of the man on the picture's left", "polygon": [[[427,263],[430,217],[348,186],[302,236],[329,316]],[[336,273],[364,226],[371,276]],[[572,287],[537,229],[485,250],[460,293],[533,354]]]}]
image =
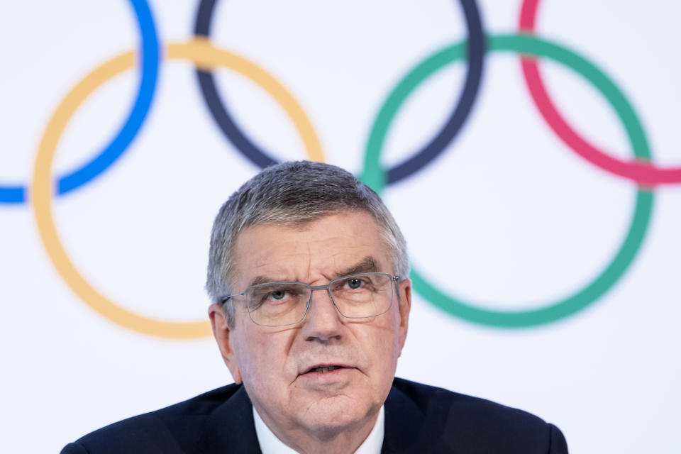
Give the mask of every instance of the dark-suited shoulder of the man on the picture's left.
[{"label": "dark-suited shoulder of the man on the picture's left", "polygon": [[242,387],[230,384],[100,428],[67,445],[62,454],[194,452],[210,419],[230,399],[250,405]]}]

